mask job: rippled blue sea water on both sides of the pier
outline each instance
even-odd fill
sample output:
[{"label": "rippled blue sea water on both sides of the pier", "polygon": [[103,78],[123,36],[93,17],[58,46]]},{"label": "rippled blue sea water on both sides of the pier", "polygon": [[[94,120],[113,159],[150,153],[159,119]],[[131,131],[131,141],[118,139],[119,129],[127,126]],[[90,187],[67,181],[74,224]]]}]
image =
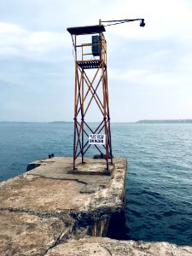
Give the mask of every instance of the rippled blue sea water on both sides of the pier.
[{"label": "rippled blue sea water on both sides of the pier", "polygon": [[[127,239],[192,245],[192,124],[112,124],[128,160]],[[72,156],[73,124],[0,124],[0,181],[54,153]]]}]

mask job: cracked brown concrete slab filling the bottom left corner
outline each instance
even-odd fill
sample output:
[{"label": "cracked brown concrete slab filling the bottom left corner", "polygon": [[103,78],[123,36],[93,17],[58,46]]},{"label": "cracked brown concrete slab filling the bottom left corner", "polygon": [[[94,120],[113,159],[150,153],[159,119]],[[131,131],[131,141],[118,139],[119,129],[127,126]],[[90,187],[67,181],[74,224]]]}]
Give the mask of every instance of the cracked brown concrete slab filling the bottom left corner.
[{"label": "cracked brown concrete slab filling the bottom left corner", "polygon": [[67,227],[59,218],[0,212],[0,255],[44,255]]}]

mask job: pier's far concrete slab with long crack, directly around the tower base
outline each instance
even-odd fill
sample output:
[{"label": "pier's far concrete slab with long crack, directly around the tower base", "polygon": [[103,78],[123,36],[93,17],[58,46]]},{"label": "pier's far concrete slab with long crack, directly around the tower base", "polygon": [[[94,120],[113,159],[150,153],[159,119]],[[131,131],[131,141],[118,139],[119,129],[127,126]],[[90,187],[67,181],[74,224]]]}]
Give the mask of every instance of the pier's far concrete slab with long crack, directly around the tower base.
[{"label": "pier's far concrete slab with long crack, directly around the tower base", "polygon": [[[86,160],[96,165],[101,160]],[[68,174],[71,158],[40,160],[41,166],[0,186],[0,207],[24,212],[117,211],[123,207],[126,161],[114,160],[112,176]],[[83,165],[84,169],[86,165]],[[89,169],[88,169],[89,172]]]}]

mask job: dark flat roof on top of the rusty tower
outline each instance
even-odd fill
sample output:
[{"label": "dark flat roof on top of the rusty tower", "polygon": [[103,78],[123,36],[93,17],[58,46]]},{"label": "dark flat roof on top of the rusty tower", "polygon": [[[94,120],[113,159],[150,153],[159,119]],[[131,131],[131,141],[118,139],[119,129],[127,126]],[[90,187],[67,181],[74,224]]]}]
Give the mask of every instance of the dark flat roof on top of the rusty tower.
[{"label": "dark flat roof on top of the rusty tower", "polygon": [[67,32],[70,32],[71,35],[86,35],[86,34],[95,34],[100,32],[105,32],[105,27],[103,25],[96,26],[74,26],[67,27]]}]

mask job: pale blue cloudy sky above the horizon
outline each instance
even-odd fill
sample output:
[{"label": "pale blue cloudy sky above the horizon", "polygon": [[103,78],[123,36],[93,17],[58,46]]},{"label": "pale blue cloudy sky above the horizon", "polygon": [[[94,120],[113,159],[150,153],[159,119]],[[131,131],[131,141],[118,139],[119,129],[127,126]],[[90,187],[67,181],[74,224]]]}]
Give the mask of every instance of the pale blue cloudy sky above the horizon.
[{"label": "pale blue cloudy sky above the horizon", "polygon": [[67,27],[137,18],[146,26],[106,27],[111,120],[192,119],[191,0],[6,0],[0,2],[0,121],[73,121]]}]

